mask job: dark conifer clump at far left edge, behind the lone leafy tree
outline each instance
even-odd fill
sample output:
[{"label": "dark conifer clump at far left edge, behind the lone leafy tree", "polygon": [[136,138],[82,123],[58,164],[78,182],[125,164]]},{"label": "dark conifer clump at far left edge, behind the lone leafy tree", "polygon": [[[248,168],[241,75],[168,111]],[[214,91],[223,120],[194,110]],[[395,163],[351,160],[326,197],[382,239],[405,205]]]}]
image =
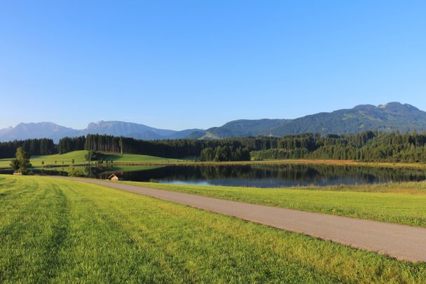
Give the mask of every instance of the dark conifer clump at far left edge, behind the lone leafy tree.
[{"label": "dark conifer clump at far left edge, behind the lone leafy tree", "polygon": [[19,147],[32,156],[57,153],[55,143],[53,143],[51,139],[15,140],[11,142],[0,142],[0,158],[13,158],[16,149]]}]

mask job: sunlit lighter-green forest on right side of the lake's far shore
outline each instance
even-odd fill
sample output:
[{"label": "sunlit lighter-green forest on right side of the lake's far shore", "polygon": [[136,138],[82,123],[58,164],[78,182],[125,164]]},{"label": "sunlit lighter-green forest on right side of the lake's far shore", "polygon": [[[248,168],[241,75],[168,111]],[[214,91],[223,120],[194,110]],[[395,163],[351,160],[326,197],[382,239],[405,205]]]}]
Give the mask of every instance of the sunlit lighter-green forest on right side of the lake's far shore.
[{"label": "sunlit lighter-green forest on right side of the lake's far shore", "polygon": [[[376,162],[426,162],[426,133],[377,133],[354,135],[303,134],[283,137],[293,146],[252,151],[254,159],[314,158]],[[291,143],[291,142],[289,142]],[[278,142],[277,145],[280,145]]]}]

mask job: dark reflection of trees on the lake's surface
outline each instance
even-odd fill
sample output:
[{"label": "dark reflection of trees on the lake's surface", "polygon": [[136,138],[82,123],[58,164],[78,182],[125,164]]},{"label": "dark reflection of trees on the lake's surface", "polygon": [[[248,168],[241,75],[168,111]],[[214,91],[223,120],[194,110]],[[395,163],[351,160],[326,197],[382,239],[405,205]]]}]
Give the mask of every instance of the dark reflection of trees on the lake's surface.
[{"label": "dark reflection of trees on the lake's surface", "polygon": [[338,180],[371,183],[425,180],[425,171],[408,168],[376,168],[332,165],[217,165],[167,166],[153,170],[116,173],[124,180],[287,180],[303,184]]}]

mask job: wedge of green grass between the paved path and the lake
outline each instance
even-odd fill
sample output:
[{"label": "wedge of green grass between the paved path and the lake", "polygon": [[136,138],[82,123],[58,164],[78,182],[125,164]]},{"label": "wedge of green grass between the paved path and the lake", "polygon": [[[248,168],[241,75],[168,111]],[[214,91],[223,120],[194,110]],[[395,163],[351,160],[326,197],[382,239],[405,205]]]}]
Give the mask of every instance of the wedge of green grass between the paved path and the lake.
[{"label": "wedge of green grass between the paved path and the lake", "polygon": [[[426,226],[426,194],[394,194],[377,192],[336,191],[342,187],[257,189],[248,187],[216,187],[181,184],[156,184],[146,182],[125,182],[142,187],[153,187],[198,194],[233,201],[256,203],[310,212],[373,219],[383,222]],[[405,183],[408,187],[422,188],[426,183]],[[416,184],[416,185],[412,185]],[[362,186],[358,186],[362,187]],[[382,185],[392,189],[396,184]],[[357,187],[352,187],[357,188]],[[370,189],[380,188],[371,186]],[[316,189],[316,190],[312,190]],[[335,189],[327,191],[326,189]]]}]

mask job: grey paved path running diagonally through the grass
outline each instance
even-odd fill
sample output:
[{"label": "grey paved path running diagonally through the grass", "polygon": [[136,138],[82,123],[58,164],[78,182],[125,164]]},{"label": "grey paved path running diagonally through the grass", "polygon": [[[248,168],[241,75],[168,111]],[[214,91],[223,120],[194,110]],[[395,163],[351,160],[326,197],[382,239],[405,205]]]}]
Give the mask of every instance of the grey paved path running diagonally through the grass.
[{"label": "grey paved path running diagonally through the grass", "polygon": [[70,179],[186,204],[397,259],[426,262],[426,228],[226,201],[102,180]]}]

